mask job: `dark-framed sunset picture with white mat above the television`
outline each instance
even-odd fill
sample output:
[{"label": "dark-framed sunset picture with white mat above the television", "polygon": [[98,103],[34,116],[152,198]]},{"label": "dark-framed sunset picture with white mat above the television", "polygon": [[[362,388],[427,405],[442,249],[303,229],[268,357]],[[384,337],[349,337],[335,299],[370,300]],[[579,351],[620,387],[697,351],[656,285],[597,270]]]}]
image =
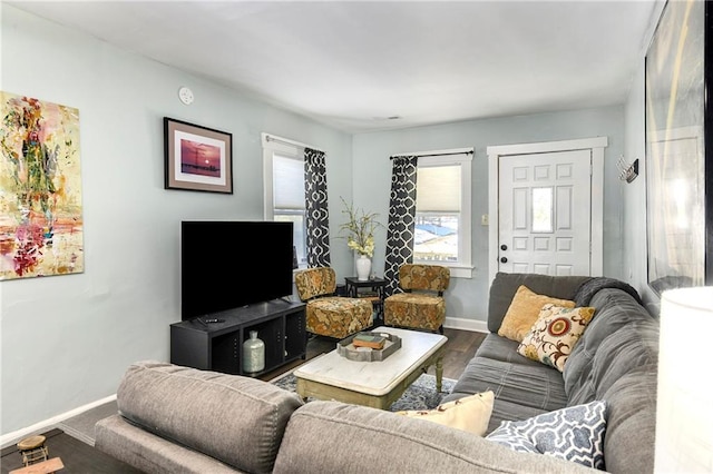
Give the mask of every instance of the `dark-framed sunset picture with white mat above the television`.
[{"label": "dark-framed sunset picture with white mat above the television", "polygon": [[164,117],[165,189],[233,194],[233,134]]}]

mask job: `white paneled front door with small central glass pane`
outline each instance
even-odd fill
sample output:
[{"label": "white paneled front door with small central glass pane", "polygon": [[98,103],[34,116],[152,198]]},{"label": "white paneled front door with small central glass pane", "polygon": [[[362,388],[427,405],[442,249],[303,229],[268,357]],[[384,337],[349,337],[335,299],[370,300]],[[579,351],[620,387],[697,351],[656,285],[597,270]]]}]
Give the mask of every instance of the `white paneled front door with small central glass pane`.
[{"label": "white paneled front door with small central glass pane", "polygon": [[590,275],[592,151],[499,159],[498,270]]}]

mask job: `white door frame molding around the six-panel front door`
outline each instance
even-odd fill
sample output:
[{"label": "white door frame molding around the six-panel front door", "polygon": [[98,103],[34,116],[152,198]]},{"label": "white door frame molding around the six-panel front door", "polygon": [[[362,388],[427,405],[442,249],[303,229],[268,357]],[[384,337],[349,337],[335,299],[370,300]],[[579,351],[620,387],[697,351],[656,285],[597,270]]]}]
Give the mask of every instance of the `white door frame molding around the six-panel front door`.
[{"label": "white door frame molding around the six-panel front door", "polygon": [[607,137],[583,138],[576,140],[544,141],[535,144],[497,145],[487,147],[488,152],[488,273],[492,282],[498,271],[498,231],[500,157],[511,155],[535,155],[556,151],[590,150],[592,152],[592,249],[589,251],[589,273],[602,276],[604,266],[604,148]]}]

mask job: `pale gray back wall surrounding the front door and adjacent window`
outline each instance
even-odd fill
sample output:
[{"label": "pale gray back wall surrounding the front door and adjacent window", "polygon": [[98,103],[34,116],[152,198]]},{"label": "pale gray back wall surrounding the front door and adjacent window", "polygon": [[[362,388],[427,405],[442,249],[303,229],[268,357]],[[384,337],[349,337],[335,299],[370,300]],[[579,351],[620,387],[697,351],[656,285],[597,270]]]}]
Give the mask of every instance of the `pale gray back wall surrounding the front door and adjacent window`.
[{"label": "pale gray back wall surrounding the front door and adjacent window", "polygon": [[[604,170],[604,274],[622,277],[622,197],[616,161],[624,151],[623,106],[539,113],[521,117],[472,120],[398,131],[355,135],[353,140],[354,201],[379,213],[385,224],[389,209],[391,161],[389,156],[409,151],[475,147],[472,161],[472,279],[455,278],[447,294],[447,318],[485,322],[489,290],[488,227],[480,216],[488,214],[488,157],[486,148],[537,141],[608,137]],[[377,238],[374,269],[383,274],[385,233]],[[482,324],[480,324],[482,326]]]}]

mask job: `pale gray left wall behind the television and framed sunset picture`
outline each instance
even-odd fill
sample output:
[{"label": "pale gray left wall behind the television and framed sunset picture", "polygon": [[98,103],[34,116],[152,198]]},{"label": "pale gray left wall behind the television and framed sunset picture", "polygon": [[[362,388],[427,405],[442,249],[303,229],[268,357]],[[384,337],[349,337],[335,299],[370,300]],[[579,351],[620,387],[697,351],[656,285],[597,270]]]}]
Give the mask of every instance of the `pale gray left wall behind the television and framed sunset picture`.
[{"label": "pale gray left wall behind the television and framed sunset picture", "polygon": [[[80,275],[0,283],[4,434],[116,393],[135,361],[168,361],[179,221],[263,218],[262,131],[325,150],[335,195],[352,178],[349,135],[1,8],[2,90],[79,109],[86,257]],[[164,116],[233,134],[234,195],[164,189]]]}]

